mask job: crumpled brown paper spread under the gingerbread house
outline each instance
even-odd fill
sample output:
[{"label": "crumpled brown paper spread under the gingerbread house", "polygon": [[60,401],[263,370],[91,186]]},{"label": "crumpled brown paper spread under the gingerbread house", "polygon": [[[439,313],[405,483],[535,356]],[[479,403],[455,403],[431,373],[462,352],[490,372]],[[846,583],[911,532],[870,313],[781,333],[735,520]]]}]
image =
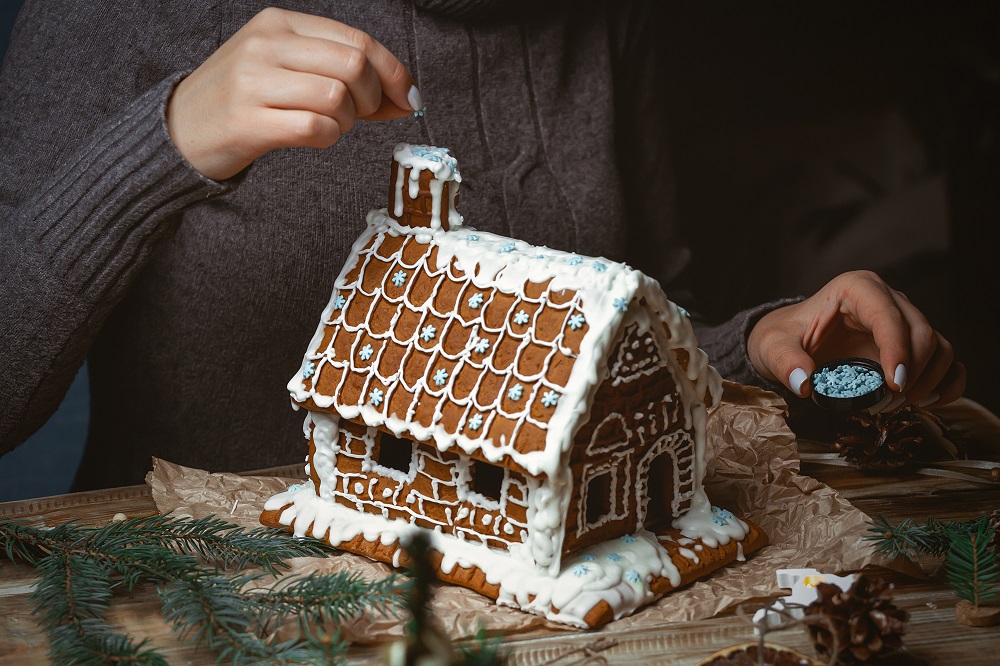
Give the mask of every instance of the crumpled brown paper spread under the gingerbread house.
[{"label": "crumpled brown paper spread under the gingerbread house", "polygon": [[[712,617],[751,599],[781,594],[775,572],[815,567],[827,573],[857,571],[872,560],[863,540],[869,517],[834,489],[799,473],[795,435],[785,422],[785,402],[776,394],[726,383],[722,403],[708,418],[705,488],[712,503],[757,523],[768,547],[706,579],[670,593],[607,630],[662,625]],[[258,527],[264,502],[301,479],[211,474],[154,460],[146,481],[157,508],[202,517],[218,515]],[[350,570],[366,577],[389,568],[350,553],[326,559],[298,558],[291,572]],[[504,635],[578,631],[521,611],[503,608],[465,588],[436,586],[432,613],[454,640],[480,626]],[[343,628],[345,637],[373,642],[403,634],[402,620],[362,617]]]}]

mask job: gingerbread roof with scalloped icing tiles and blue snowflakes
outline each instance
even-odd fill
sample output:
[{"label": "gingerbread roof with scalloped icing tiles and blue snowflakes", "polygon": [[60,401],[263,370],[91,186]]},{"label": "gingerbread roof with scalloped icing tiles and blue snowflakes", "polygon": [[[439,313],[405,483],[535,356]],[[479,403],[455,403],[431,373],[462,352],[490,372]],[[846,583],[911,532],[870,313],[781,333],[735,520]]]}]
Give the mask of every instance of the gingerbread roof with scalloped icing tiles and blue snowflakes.
[{"label": "gingerbread roof with scalloped icing tiles and blue snowflakes", "polygon": [[633,322],[685,352],[688,404],[718,394],[687,317],[639,271],[460,216],[448,230],[375,210],[288,388],[295,404],[551,476]]}]

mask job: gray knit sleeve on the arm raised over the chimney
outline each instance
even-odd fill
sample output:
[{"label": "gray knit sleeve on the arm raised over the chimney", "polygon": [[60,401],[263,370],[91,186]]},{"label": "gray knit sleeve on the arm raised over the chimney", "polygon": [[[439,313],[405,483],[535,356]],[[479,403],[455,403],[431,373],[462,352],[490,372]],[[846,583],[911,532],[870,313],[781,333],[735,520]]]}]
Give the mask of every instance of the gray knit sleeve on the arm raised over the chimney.
[{"label": "gray knit sleeve on the arm raised over the chimney", "polygon": [[0,452],[58,406],[104,319],[177,213],[230,189],[205,179],[164,126],[167,80],[99,126],[7,212],[0,243]]}]

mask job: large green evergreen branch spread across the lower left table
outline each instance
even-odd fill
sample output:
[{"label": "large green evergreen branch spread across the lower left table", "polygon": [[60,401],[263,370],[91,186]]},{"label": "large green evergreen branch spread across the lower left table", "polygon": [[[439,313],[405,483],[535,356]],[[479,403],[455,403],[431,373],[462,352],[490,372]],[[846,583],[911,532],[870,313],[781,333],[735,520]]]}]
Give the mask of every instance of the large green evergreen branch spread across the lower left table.
[{"label": "large green evergreen branch spread across the lower left table", "polygon": [[[146,641],[135,643],[104,620],[114,591],[140,583],[157,586],[163,615],[182,640],[232,664],[338,663],[346,646],[324,625],[362,610],[394,612],[402,598],[398,577],[369,583],[342,573],[312,574],[266,590],[256,586],[261,573],[227,574],[257,566],[277,575],[288,558],[331,549],[214,517],[167,514],[50,530],[0,521],[0,550],[37,568],[32,602],[57,664],[166,664]],[[274,631],[291,616],[299,619],[300,636],[275,642]]]}]

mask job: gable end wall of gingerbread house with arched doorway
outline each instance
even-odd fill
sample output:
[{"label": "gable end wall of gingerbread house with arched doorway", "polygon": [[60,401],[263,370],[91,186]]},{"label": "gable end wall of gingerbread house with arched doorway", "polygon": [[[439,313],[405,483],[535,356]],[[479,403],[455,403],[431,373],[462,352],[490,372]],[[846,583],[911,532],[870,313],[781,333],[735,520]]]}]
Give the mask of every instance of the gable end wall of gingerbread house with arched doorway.
[{"label": "gable end wall of gingerbread house with arched doorway", "polygon": [[[570,453],[564,553],[667,523],[689,507],[693,492],[694,439],[652,336],[628,327],[607,370]],[[588,503],[608,512],[588,515]]]}]

